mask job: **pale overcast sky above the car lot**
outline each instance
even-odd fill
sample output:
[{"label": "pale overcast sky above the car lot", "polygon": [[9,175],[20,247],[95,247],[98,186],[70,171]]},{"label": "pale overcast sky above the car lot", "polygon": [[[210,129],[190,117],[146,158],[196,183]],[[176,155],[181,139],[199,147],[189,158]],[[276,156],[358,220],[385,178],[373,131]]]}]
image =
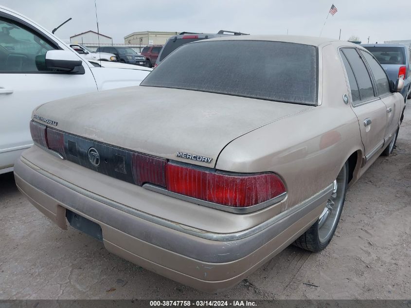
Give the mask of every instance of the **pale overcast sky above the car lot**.
[{"label": "pale overcast sky above the car lot", "polygon": [[[411,1],[387,0],[96,0],[99,30],[113,43],[138,31],[320,36],[362,43],[411,39]],[[327,17],[334,4],[338,12]],[[68,18],[55,35],[62,39],[97,31],[94,0],[1,0],[49,31]]]}]

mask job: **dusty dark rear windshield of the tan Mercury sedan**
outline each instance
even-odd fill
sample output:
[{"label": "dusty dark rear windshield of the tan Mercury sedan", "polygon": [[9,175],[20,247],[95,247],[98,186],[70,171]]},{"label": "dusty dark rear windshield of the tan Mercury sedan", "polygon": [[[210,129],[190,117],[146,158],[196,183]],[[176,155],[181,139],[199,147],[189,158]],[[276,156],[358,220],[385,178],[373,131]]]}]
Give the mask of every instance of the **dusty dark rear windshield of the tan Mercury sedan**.
[{"label": "dusty dark rear windshield of the tan Mercury sedan", "polygon": [[186,44],[141,85],[316,105],[317,49],[251,40]]}]

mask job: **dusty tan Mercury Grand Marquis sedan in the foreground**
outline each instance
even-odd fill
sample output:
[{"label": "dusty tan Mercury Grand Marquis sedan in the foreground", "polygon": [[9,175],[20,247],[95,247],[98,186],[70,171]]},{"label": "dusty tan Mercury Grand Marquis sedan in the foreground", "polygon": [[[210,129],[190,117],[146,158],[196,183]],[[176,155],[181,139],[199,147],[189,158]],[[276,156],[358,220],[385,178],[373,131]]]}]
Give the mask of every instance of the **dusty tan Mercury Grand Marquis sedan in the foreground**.
[{"label": "dusty tan Mercury Grand Marquis sedan in the foreground", "polygon": [[202,40],[138,87],[35,109],[15,179],[59,227],[217,292],[293,242],[328,245],[347,188],[393,152],[403,86],[349,42]]}]

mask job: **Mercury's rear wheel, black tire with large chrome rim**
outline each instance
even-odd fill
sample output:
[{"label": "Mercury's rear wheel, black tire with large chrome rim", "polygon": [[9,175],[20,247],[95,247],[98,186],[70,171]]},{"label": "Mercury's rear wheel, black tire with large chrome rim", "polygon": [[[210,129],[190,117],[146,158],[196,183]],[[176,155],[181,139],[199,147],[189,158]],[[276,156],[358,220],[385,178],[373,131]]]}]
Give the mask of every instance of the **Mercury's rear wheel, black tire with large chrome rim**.
[{"label": "Mercury's rear wheel, black tire with large chrome rim", "polygon": [[333,182],[333,191],[317,221],[305,233],[297,238],[294,245],[311,252],[322,251],[330,243],[340,220],[344,206],[348,183],[348,162],[344,164],[337,179]]}]

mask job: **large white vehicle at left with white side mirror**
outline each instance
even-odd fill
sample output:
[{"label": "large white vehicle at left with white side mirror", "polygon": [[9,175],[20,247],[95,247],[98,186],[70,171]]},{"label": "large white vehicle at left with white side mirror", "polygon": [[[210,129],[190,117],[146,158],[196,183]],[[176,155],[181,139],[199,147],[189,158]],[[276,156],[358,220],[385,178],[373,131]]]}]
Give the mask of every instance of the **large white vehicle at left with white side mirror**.
[{"label": "large white vehicle at left with white side mirror", "polygon": [[21,152],[33,144],[27,121],[36,106],[138,85],[149,73],[95,67],[34,21],[2,6],[0,29],[0,174],[13,171]]}]

